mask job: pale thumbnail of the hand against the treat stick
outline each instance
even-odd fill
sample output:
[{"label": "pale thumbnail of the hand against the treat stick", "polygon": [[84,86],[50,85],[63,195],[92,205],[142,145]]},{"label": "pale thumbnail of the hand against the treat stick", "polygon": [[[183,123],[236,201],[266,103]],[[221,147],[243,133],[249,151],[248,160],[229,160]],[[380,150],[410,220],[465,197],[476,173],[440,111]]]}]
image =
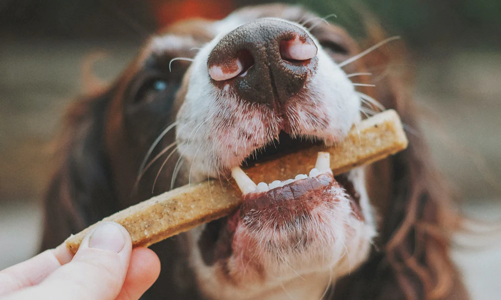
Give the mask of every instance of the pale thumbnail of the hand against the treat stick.
[{"label": "pale thumbnail of the hand against the treat stick", "polygon": [[125,237],[118,224],[108,222],[97,227],[89,239],[89,247],[118,253],[125,245]]}]

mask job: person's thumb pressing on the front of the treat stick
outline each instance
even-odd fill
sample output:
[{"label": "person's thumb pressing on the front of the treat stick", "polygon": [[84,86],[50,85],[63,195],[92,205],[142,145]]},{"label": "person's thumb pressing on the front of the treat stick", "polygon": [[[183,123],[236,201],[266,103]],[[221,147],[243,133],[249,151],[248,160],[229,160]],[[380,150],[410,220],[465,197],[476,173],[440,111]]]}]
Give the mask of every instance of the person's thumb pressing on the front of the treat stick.
[{"label": "person's thumb pressing on the front of the treat stick", "polygon": [[9,299],[114,300],[122,289],[132,251],[130,235],[117,223],[99,225],[83,239],[73,259],[41,284]]}]

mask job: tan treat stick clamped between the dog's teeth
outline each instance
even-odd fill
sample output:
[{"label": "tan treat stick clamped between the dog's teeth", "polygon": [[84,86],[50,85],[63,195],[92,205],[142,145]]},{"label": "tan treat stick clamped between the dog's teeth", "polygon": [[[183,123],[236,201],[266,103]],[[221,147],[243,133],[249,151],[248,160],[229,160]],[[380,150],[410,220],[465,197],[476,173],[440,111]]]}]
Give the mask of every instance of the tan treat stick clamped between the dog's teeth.
[{"label": "tan treat stick clamped between the dog's teeth", "polygon": [[[337,175],[383,159],[406,147],[407,138],[398,114],[394,110],[386,110],[354,126],[345,140],[335,146],[326,148],[316,145],[249,167],[245,171],[255,182],[284,180],[313,168],[317,153],[325,151],[330,153],[332,171]],[[236,209],[241,192],[233,185],[209,180],[181,186],[105,217],[102,221],[122,224],[131,235],[133,246],[149,246]],[[100,222],[68,237],[68,248],[75,253],[85,234]]]}]

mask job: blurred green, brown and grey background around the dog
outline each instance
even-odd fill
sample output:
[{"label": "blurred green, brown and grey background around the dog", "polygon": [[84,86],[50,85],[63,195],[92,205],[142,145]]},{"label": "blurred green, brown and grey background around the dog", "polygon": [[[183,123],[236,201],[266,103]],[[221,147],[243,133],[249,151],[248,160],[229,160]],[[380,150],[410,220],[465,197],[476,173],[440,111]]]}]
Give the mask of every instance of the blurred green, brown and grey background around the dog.
[{"label": "blurred green, brown and grey background around the dog", "polygon": [[[221,18],[244,0],[0,0],[0,269],[36,253],[41,200],[54,170],[51,140],[84,92],[82,64],[112,80],[149,34],[175,20]],[[469,216],[501,214],[501,1],[310,0],[359,34],[357,9],[408,45],[415,99],[433,159]],[[473,299],[499,299],[501,242],[454,249]]]}]

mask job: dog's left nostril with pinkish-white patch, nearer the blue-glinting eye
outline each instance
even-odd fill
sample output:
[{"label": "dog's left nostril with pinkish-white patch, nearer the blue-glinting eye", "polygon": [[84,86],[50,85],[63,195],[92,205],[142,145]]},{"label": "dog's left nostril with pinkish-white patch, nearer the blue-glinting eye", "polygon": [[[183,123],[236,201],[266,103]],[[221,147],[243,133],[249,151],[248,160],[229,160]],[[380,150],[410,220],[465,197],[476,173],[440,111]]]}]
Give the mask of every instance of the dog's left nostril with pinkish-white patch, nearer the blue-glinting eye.
[{"label": "dog's left nostril with pinkish-white patch, nearer the blue-glinting eye", "polygon": [[236,58],[209,66],[209,75],[216,81],[228,80],[238,75],[245,75],[253,64],[252,54],[248,50],[242,50]]}]

